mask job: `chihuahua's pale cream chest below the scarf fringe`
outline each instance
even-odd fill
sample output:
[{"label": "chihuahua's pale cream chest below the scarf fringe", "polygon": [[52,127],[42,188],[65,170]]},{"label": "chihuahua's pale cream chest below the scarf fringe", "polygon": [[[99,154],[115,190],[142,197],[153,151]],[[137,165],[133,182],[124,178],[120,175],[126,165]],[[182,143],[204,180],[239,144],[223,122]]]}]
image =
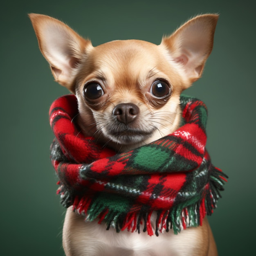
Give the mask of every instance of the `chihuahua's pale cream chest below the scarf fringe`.
[{"label": "chihuahua's pale cream chest below the scarf fringe", "polygon": [[188,243],[192,247],[197,245],[193,231],[194,229],[188,229],[174,235],[171,230],[160,233],[159,236],[126,230],[117,233],[114,228],[106,230],[106,226],[99,225],[97,220],[85,222],[83,217],[77,216],[69,208],[63,229],[63,246],[75,250],[70,255],[184,256],[189,255],[184,249]]}]

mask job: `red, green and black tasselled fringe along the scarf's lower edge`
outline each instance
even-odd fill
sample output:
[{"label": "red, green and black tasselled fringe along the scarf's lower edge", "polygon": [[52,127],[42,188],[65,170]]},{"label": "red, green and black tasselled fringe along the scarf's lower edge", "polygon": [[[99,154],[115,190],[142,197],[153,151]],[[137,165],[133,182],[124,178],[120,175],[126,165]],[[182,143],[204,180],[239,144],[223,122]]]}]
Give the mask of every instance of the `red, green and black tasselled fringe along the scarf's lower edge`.
[{"label": "red, green and black tasselled fringe along the scarf's lower edge", "polygon": [[[223,191],[223,185],[227,182],[228,176],[220,169],[212,166],[210,172],[210,181],[204,187],[201,198],[195,196],[189,201],[173,206],[171,210],[158,210],[155,221],[155,228],[152,227],[151,215],[153,211],[147,212],[141,210],[139,212],[129,212],[126,215],[119,211],[106,209],[106,206],[100,202],[92,202],[90,198],[76,195],[74,198],[60,185],[57,194],[61,195],[61,204],[67,208],[73,205],[73,211],[86,216],[85,221],[93,221],[99,219],[99,224],[105,222],[107,230],[110,227],[116,229],[117,232],[128,231],[138,233],[148,232],[149,236],[159,236],[159,232],[168,232],[173,229],[174,234],[180,233],[182,229],[187,227],[202,226],[203,219],[206,215],[211,215],[213,209],[217,207],[217,201],[221,198],[220,191]],[[155,231],[155,232],[154,232]]]}]

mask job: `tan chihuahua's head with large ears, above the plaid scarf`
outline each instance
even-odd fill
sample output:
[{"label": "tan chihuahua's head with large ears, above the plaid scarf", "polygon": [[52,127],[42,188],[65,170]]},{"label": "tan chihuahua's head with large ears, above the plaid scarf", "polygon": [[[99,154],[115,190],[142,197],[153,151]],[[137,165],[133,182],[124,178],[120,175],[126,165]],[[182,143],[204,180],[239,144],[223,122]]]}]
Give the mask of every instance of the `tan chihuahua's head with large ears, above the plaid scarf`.
[{"label": "tan chihuahua's head with large ears, above the plaid scarf", "polygon": [[180,94],[200,78],[218,20],[197,16],[160,45],[117,40],[93,47],[59,20],[29,16],[54,78],[78,99],[79,126],[118,150],[177,129]]}]

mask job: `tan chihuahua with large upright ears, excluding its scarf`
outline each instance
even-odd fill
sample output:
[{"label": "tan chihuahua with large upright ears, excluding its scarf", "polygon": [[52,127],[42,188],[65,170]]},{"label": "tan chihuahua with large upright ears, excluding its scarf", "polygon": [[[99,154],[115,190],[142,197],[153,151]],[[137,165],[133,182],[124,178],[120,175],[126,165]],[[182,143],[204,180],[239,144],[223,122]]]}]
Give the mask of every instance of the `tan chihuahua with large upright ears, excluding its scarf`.
[{"label": "tan chihuahua with large upright ears, excluding its scarf", "polygon": [[[61,21],[29,15],[55,80],[76,95],[78,124],[117,152],[166,136],[180,126],[180,94],[200,78],[213,47],[218,15],[192,18],[160,45],[116,40],[93,47]],[[152,215],[155,225],[156,215]],[[67,209],[63,227],[67,256],[216,256],[205,218],[200,227],[174,235],[106,230]]]}]

